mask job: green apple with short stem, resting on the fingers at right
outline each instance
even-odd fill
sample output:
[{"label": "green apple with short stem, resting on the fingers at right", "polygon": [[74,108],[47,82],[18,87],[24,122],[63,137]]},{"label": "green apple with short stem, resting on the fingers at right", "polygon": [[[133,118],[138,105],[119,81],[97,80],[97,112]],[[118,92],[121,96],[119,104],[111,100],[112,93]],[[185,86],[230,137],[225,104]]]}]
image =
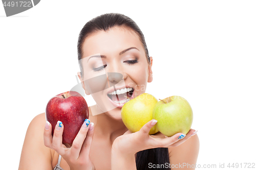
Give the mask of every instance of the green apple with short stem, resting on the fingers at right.
[{"label": "green apple with short stem, resting on the fingers at right", "polygon": [[176,133],[187,134],[193,122],[193,112],[189,103],[181,96],[170,96],[156,103],[153,118],[157,129],[165,136]]}]

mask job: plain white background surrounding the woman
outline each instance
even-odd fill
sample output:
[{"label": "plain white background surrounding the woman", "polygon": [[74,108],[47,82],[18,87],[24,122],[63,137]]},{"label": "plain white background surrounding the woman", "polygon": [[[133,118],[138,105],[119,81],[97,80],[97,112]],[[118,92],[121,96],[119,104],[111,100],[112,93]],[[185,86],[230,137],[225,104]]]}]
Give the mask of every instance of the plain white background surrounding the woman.
[{"label": "plain white background surrounding the woman", "polygon": [[33,117],[77,84],[80,30],[110,12],[144,33],[154,79],[146,92],[183,96],[193,108],[197,164],[256,163],[255,8],[255,1],[42,0],[6,17],[0,5],[1,166],[18,168]]}]

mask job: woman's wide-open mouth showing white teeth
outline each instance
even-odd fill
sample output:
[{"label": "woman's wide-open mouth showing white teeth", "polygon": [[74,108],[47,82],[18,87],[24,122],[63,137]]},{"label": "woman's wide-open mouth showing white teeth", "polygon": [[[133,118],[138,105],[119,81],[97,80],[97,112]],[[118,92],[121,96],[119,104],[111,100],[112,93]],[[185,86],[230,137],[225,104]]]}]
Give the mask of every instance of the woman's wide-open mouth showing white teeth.
[{"label": "woman's wide-open mouth showing white teeth", "polygon": [[[108,93],[109,98],[116,104],[124,104],[133,96],[134,88],[132,87],[125,87],[116,91],[113,91],[111,93]],[[128,98],[126,98],[126,96]],[[130,99],[129,99],[130,98]]]}]

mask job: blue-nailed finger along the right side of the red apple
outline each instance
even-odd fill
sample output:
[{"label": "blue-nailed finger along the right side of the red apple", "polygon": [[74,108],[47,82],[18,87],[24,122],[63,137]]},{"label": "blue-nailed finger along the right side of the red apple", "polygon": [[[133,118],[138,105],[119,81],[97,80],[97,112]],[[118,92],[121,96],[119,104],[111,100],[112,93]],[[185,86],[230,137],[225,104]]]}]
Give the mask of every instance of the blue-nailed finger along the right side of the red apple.
[{"label": "blue-nailed finger along the right side of the red apple", "polygon": [[80,128],[78,134],[76,135],[76,137],[75,137],[75,139],[72,143],[72,147],[70,149],[70,152],[71,152],[72,155],[74,155],[74,157],[76,159],[79,157],[81,147],[82,147],[84,139],[87,136],[89,127],[90,127],[90,120],[85,119],[83,124],[82,124],[82,127]]}]

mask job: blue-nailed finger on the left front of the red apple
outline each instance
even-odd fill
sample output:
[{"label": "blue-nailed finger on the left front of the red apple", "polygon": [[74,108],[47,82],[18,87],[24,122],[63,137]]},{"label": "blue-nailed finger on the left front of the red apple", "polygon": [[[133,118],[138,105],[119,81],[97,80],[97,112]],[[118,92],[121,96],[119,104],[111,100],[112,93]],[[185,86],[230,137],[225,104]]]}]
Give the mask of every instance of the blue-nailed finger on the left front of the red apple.
[{"label": "blue-nailed finger on the left front of the red apple", "polygon": [[62,122],[58,121],[55,126],[55,130],[52,138],[52,147],[60,155],[63,155],[65,153],[63,150],[65,145],[62,144],[63,129],[64,129],[64,126]]}]

